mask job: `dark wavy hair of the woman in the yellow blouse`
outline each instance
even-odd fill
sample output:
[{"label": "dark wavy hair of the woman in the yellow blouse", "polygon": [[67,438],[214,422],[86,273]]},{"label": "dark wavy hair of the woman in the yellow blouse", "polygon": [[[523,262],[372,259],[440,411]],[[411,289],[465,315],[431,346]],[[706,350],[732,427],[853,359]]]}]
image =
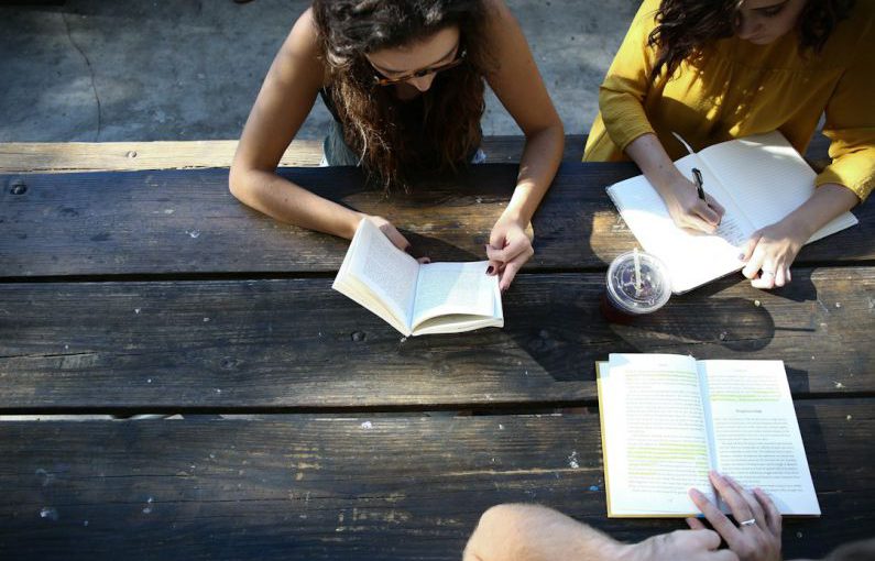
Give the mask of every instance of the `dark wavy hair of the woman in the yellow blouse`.
[{"label": "dark wavy hair of the woman in the yellow blouse", "polygon": [[[847,18],[855,0],[808,0],[799,14],[797,32],[801,50],[819,53],[835,25]],[[683,61],[697,61],[702,48],[735,34],[743,0],[663,0],[656,29],[647,45],[657,51],[650,70],[655,81],[665,68],[670,76]]]}]

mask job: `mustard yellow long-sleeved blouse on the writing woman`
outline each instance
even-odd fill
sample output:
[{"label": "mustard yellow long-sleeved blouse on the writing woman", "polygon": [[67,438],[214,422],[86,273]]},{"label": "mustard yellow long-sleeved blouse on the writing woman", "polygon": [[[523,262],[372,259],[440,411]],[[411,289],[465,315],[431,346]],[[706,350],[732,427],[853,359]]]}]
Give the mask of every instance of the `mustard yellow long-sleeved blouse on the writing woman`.
[{"label": "mustard yellow long-sleeved blouse on the writing woman", "polygon": [[832,164],[817,185],[868,196],[875,185],[875,1],[857,0],[820,54],[800,52],[796,33],[764,46],[731,37],[650,84],[656,52],[647,36],[658,7],[659,0],[644,1],[608,70],[584,161],[626,160],[628,143],[650,132],[677,160],[686,152],[671,131],[701,150],[779,130],[805,153],[825,111]]}]

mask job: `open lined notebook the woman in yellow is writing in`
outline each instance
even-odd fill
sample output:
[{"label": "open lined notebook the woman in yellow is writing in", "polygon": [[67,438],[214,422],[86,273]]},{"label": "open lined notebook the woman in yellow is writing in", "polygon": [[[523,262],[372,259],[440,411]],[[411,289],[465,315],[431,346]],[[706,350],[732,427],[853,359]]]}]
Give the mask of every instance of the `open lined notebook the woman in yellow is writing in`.
[{"label": "open lined notebook the woman in yellow is writing in", "polygon": [[[774,131],[689,151],[675,162],[685,177],[701,170],[704,190],[726,210],[714,234],[675,226],[661,197],[643,175],[608,187],[642,248],[669,270],[676,294],[744,266],[739,253],[756,230],[789,215],[814,193],[817,174],[780,132]],[[811,243],[857,223],[844,212],[808,240]]]}]

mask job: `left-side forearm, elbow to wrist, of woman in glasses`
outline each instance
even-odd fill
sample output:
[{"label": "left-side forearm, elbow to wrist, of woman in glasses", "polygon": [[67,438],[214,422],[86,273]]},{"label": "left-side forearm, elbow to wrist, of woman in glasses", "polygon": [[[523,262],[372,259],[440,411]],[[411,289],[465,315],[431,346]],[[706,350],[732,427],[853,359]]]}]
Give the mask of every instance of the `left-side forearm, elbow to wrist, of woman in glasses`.
[{"label": "left-side forearm, elbow to wrist, of woman in glasses", "polygon": [[308,230],[351,239],[363,213],[338,205],[273,172],[232,170],[231,193],[260,212]]}]

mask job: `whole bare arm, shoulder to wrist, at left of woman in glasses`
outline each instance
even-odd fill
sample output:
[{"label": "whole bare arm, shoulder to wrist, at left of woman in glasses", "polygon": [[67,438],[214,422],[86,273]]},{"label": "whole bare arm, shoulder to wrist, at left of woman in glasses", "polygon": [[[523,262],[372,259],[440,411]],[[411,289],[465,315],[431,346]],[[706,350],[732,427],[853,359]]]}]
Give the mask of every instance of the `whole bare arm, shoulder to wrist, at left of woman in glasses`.
[{"label": "whole bare arm, shoulder to wrist, at left of woman in glasses", "polygon": [[317,32],[307,10],[267,72],[234,154],[229,186],[241,202],[277,220],[349,239],[362,213],[314,195],[275,173],[324,80]]}]

